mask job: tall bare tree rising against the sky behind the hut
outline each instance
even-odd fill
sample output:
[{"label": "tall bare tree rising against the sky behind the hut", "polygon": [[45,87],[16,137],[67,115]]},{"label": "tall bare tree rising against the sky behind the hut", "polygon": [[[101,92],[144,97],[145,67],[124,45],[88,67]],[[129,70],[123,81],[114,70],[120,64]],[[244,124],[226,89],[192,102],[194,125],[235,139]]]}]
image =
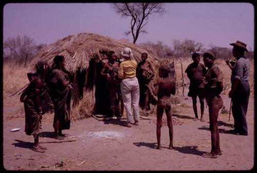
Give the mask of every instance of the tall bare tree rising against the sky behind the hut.
[{"label": "tall bare tree rising against the sky behind the hut", "polygon": [[164,13],[161,3],[114,3],[112,7],[122,17],[131,17],[131,30],[125,34],[132,33],[134,44],[136,44],[140,33],[147,33],[143,28],[148,24],[149,16],[154,13]]}]

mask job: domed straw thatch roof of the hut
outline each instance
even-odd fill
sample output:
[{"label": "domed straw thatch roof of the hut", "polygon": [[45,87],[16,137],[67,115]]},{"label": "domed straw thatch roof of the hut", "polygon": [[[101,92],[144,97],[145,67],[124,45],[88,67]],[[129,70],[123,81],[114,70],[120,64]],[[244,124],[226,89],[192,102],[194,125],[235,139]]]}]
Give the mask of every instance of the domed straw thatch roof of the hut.
[{"label": "domed straw thatch roof of the hut", "polygon": [[132,49],[134,59],[137,62],[141,61],[141,53],[143,52],[148,53],[150,61],[157,59],[152,53],[131,42],[93,33],[79,33],[69,35],[43,48],[35,55],[30,64],[34,67],[38,60],[46,60],[49,64],[52,64],[54,56],[63,55],[65,57],[65,68],[69,72],[75,73],[78,69],[87,69],[90,58],[106,58],[106,55],[100,54],[99,50],[112,50],[120,56],[120,52],[125,47]]}]

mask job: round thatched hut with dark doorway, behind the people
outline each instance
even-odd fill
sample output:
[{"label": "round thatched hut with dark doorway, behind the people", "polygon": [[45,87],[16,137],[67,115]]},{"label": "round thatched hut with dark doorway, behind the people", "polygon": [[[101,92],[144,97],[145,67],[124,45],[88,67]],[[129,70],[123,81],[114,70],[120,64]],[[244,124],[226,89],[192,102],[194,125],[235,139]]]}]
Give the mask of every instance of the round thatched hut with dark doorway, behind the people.
[{"label": "round thatched hut with dark doorway, behind the people", "polygon": [[97,102],[99,97],[97,95],[99,94],[95,84],[98,80],[99,69],[102,67],[102,59],[107,58],[99,51],[112,50],[119,56],[125,47],[133,50],[134,59],[137,62],[141,60],[141,53],[143,52],[149,54],[150,61],[156,60],[151,52],[141,49],[131,42],[93,33],[79,33],[69,35],[40,50],[30,62],[30,67],[34,67],[38,60],[46,60],[49,64],[52,64],[54,56],[63,55],[65,57],[65,68],[72,74],[72,80],[74,80],[74,105],[78,103],[79,97],[83,96],[84,87],[96,90]]}]

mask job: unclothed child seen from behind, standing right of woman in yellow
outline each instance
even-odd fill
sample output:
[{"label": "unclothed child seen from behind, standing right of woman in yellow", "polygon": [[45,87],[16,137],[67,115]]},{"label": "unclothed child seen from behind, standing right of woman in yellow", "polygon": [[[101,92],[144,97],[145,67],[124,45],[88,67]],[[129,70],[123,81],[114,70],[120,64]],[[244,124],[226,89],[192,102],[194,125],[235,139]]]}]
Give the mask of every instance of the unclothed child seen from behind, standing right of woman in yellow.
[{"label": "unclothed child seen from behind, standing right of woman in yellow", "polygon": [[169,77],[170,68],[168,66],[160,66],[159,68],[159,77],[157,79],[156,87],[152,86],[154,95],[158,97],[157,103],[157,126],[156,126],[156,135],[157,135],[157,149],[161,149],[160,145],[160,136],[161,136],[161,124],[162,124],[162,114],[163,110],[166,112],[169,135],[170,135],[170,145],[169,149],[173,149],[173,124],[172,124],[172,114],[171,114],[171,94],[175,95],[176,93],[176,83],[173,78]]}]

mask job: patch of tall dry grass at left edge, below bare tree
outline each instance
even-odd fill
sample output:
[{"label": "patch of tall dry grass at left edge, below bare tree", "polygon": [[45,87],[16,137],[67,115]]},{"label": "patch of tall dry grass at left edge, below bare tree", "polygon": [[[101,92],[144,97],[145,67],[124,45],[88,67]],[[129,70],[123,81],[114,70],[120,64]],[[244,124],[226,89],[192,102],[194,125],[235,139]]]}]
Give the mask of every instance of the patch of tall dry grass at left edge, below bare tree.
[{"label": "patch of tall dry grass at left edge, below bare tree", "polygon": [[28,69],[14,63],[3,64],[3,89],[6,93],[15,93],[29,83]]}]

